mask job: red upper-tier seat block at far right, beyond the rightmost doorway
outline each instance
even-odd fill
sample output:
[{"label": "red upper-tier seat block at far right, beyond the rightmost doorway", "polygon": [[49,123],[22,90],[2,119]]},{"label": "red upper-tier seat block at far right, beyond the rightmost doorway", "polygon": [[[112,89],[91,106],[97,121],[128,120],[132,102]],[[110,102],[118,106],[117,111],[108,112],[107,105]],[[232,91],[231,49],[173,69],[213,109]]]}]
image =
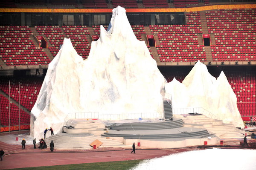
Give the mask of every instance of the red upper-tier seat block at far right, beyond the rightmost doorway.
[{"label": "red upper-tier seat block at far right, beyond the rightmost doorway", "polygon": [[206,12],[207,27],[214,34],[213,61],[256,61],[256,15],[252,9]]}]

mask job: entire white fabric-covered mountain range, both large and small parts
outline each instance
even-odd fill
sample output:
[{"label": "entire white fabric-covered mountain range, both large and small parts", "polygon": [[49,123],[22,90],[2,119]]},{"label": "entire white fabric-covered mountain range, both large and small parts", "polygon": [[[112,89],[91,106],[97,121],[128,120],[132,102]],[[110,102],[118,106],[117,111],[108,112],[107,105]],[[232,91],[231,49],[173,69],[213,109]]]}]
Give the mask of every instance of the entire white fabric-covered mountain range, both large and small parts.
[{"label": "entire white fabric-covered mountain range, both large and small parts", "polygon": [[[60,133],[70,113],[95,112],[110,120],[116,115],[149,114],[163,118],[163,96],[173,108],[202,107],[224,123],[243,127],[224,73],[216,80],[198,61],[183,83],[166,82],[145,42],[137,40],[125,14],[113,9],[108,31],[91,44],[86,60],[64,39],[49,63],[37,101],[31,111],[31,135],[42,138],[45,128]],[[50,133],[47,133],[47,137]]]}]

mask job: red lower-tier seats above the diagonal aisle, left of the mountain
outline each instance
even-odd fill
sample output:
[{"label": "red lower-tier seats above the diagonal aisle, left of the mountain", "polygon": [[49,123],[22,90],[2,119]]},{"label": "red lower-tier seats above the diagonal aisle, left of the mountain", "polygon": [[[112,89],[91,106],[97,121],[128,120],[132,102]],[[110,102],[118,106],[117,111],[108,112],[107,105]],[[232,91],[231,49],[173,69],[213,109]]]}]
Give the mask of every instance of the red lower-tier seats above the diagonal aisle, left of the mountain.
[{"label": "red lower-tier seats above the diagonal aisle, left of the mountain", "polygon": [[[15,101],[19,101],[18,88],[20,82],[20,105],[28,110],[31,110],[38,97],[41,89],[43,78],[32,77],[32,78],[12,78],[11,79],[11,98]],[[9,81],[1,82],[1,90],[6,94],[9,94]]]}]

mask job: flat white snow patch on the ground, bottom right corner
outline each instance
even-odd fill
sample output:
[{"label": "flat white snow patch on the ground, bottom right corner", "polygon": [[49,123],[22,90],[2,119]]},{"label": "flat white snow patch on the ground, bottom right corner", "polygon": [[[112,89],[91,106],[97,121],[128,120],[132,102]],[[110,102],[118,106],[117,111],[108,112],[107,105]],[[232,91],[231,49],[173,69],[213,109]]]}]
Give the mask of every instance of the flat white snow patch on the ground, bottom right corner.
[{"label": "flat white snow patch on the ground, bottom right corner", "polygon": [[195,150],[145,160],[131,170],[256,170],[256,150]]}]

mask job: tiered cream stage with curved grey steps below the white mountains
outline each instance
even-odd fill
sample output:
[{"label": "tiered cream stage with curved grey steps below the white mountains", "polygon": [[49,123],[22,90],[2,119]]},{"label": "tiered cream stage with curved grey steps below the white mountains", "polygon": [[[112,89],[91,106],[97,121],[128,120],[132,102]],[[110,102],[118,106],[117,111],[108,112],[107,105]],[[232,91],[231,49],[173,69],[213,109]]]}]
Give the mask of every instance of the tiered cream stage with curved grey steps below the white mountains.
[{"label": "tiered cream stage with curved grey steps below the white mountains", "polygon": [[218,143],[219,138],[206,129],[183,125],[180,118],[112,124],[108,127],[100,120],[71,119],[64,127],[66,133],[52,135],[46,141],[53,140],[58,150],[92,149],[90,144],[96,139],[103,143],[100,147],[122,148],[130,148],[133,143],[154,148],[189,147],[203,145],[205,141],[207,144]]}]

